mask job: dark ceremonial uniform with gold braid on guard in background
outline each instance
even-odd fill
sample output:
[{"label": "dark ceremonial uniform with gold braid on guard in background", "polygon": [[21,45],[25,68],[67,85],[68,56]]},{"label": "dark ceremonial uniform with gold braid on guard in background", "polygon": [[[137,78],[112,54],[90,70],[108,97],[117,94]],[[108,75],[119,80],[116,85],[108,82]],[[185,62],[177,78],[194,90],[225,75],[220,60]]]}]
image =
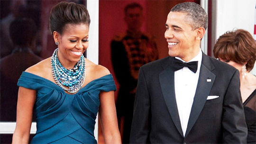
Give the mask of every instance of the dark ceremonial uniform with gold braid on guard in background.
[{"label": "dark ceremonial uniform with gold braid on guard in background", "polygon": [[[115,36],[111,41],[112,64],[120,84],[116,108],[117,115],[124,117],[124,137],[129,136],[133,117],[133,106],[139,68],[158,59],[155,40],[146,33],[134,34],[130,31]],[[128,142],[127,137],[127,142]]]}]

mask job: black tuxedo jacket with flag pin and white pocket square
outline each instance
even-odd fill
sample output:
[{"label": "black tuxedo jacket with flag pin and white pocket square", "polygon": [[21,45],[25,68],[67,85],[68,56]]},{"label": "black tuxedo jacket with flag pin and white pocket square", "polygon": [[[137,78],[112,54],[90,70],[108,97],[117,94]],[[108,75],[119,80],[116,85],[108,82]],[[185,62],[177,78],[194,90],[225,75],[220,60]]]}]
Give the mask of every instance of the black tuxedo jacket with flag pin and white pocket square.
[{"label": "black tuxedo jacket with flag pin and white pocket square", "polygon": [[[140,68],[131,144],[246,144],[247,126],[239,72],[202,55],[199,80],[185,136],[174,90],[174,57]],[[217,96],[216,99],[207,99]]]}]

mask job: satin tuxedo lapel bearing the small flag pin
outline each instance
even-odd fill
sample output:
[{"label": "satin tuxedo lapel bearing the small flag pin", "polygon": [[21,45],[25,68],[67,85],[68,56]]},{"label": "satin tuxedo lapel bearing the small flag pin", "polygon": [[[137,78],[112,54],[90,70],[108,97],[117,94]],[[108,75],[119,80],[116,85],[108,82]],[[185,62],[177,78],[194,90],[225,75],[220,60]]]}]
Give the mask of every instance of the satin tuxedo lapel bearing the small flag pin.
[{"label": "satin tuxedo lapel bearing the small flag pin", "polygon": [[206,99],[210,93],[211,87],[214,83],[215,74],[211,72],[212,69],[214,69],[213,64],[210,62],[209,58],[205,54],[203,54],[200,76],[191,108],[185,137],[189,134],[197,118],[199,117],[201,110],[206,102]]}]

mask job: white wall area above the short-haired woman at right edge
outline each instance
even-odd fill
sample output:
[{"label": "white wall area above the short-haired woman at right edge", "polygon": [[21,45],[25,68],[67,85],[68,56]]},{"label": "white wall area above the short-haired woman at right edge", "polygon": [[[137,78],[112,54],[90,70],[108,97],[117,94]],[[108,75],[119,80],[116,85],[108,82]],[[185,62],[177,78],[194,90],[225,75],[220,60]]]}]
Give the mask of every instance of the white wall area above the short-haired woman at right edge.
[{"label": "white wall area above the short-haired woman at right edge", "polygon": [[[254,33],[256,0],[216,0],[216,39],[226,31],[245,29]],[[256,65],[251,73],[256,75]]]}]

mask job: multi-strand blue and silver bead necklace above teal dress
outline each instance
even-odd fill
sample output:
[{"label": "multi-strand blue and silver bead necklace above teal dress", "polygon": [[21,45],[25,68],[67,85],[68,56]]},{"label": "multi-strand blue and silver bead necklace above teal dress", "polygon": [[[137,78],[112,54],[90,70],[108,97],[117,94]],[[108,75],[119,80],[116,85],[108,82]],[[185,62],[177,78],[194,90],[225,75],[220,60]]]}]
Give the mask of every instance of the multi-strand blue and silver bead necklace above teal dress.
[{"label": "multi-strand blue and silver bead necklace above teal dress", "polygon": [[[66,69],[61,65],[57,52],[58,48],[55,49],[51,58],[54,80],[63,90],[75,93],[82,88],[85,80],[84,56],[81,55],[73,69]],[[68,87],[68,89],[65,87]]]}]

